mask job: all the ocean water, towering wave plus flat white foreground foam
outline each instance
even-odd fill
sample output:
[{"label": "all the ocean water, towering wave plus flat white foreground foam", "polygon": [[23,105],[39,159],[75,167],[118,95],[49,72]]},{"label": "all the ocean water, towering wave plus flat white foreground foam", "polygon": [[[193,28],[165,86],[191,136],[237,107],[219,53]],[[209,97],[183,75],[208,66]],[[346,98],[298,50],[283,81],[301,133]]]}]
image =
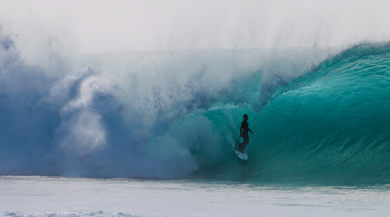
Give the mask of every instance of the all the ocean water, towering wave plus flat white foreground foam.
[{"label": "all the ocean water, towering wave plus flat white foreground foam", "polygon": [[[389,211],[390,43],[31,64],[0,42],[3,216]],[[234,154],[243,114],[248,161]]]}]

